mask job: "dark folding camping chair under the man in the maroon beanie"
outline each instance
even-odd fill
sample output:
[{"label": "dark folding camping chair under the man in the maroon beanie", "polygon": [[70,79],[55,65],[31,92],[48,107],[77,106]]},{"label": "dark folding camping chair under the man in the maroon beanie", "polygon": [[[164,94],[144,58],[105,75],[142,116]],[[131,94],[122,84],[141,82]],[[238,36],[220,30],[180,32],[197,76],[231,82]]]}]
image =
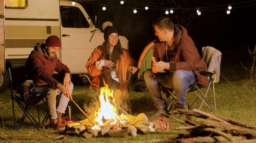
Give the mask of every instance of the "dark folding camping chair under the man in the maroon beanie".
[{"label": "dark folding camping chair under the man in the maroon beanie", "polygon": [[[9,70],[9,78],[11,81],[11,99],[12,99],[12,108],[13,108],[14,129],[19,130],[23,121],[27,117],[38,131],[39,131],[38,125],[42,124],[43,125],[42,130],[43,130],[45,127],[46,121],[48,119],[48,114],[46,114],[43,121],[40,122],[38,105],[41,103],[45,103],[45,105],[46,105],[45,99],[43,99],[40,96],[40,94],[36,94],[36,95],[32,96],[31,98],[28,98],[27,100],[23,100],[22,97],[18,97],[17,95],[13,94],[15,91],[17,91],[17,93],[19,93],[21,90],[20,85],[23,83],[23,81],[25,79],[25,77],[23,76],[24,67],[9,67],[8,70]],[[35,88],[32,80],[27,80],[27,81],[32,83],[31,84],[31,86],[33,86],[32,88]],[[18,121],[16,121],[14,100],[16,101],[16,103],[20,106],[21,110],[23,111],[23,116]],[[36,121],[36,119],[29,112],[29,111],[31,111],[32,106],[37,106],[38,121]]]}]

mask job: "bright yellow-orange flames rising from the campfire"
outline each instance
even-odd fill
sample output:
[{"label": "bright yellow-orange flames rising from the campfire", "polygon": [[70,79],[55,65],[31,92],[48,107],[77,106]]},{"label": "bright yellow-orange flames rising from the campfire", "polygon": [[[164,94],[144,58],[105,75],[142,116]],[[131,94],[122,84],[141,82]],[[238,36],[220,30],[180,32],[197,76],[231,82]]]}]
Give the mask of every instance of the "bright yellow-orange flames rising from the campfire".
[{"label": "bright yellow-orange flames rising from the campfire", "polygon": [[97,112],[95,111],[95,125],[92,127],[93,130],[100,130],[107,125],[125,124],[127,122],[126,116],[122,113],[119,117],[117,115],[117,107],[111,104],[115,102],[115,98],[113,98],[113,90],[108,89],[108,85],[101,88],[99,102],[100,107]]}]

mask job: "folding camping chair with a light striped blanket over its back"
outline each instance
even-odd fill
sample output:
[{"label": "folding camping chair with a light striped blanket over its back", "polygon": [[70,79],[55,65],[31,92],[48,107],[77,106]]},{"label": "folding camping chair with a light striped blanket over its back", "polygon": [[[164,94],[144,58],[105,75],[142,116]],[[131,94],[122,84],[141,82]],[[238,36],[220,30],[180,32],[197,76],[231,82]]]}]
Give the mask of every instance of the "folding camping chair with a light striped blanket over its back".
[{"label": "folding camping chair with a light striped blanket over its back", "polygon": [[[193,83],[189,89],[187,90],[187,93],[194,92],[197,95],[197,98],[190,104],[189,108],[195,104],[195,102],[198,99],[201,99],[202,102],[200,104],[200,107],[198,110],[202,108],[202,105],[205,104],[207,107],[211,109],[211,111],[216,111],[216,98],[215,98],[215,87],[214,83],[217,83],[220,81],[220,62],[221,62],[221,52],[213,47],[207,46],[202,48],[202,57],[207,64],[207,71],[202,71],[200,74],[207,76],[209,80],[209,85],[202,86],[199,85],[197,82]],[[212,87],[213,91],[213,102],[214,102],[214,108],[211,106],[209,101],[207,100],[207,94],[209,92],[210,87]],[[204,91],[206,89],[206,91]],[[198,92],[196,92],[198,91]],[[171,107],[172,102],[176,99],[175,95],[171,91],[169,93],[172,95],[173,99],[171,103],[168,106],[168,111],[170,111],[174,106]]]}]

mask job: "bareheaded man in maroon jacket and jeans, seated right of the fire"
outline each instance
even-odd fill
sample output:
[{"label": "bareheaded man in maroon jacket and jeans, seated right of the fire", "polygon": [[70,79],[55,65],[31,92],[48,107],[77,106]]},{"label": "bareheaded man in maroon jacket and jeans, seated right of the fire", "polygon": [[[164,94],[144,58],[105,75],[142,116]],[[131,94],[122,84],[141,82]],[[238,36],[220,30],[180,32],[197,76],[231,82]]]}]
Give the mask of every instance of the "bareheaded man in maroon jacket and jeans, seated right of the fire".
[{"label": "bareheaded man in maroon jacket and jeans, seated right of the fire", "polygon": [[[183,109],[189,86],[195,80],[201,85],[209,83],[206,76],[198,74],[207,70],[207,65],[200,57],[186,28],[173,24],[169,17],[159,17],[153,26],[158,37],[153,48],[156,63],[152,63],[152,69],[144,73],[148,91],[158,106],[157,111],[151,115],[152,118],[169,114],[159,86],[163,87],[163,91],[166,88],[173,89],[177,97],[175,109]],[[181,114],[172,114],[171,117],[177,119]]]}]

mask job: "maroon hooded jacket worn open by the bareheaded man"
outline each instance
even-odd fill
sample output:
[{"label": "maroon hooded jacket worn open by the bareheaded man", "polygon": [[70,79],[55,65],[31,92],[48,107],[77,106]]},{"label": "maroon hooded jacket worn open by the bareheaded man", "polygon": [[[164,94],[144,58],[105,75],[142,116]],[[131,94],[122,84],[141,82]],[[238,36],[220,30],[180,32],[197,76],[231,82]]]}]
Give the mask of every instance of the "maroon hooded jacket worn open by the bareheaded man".
[{"label": "maroon hooded jacket worn open by the bareheaded man", "polygon": [[[198,78],[198,83],[208,85],[207,76],[199,75],[202,70],[207,70],[207,65],[203,58],[200,57],[198,49],[191,37],[188,35],[186,28],[174,24],[174,63],[170,63],[169,70],[184,69],[193,71]],[[166,61],[166,42],[157,39],[155,42],[154,54],[156,61]]]}]

